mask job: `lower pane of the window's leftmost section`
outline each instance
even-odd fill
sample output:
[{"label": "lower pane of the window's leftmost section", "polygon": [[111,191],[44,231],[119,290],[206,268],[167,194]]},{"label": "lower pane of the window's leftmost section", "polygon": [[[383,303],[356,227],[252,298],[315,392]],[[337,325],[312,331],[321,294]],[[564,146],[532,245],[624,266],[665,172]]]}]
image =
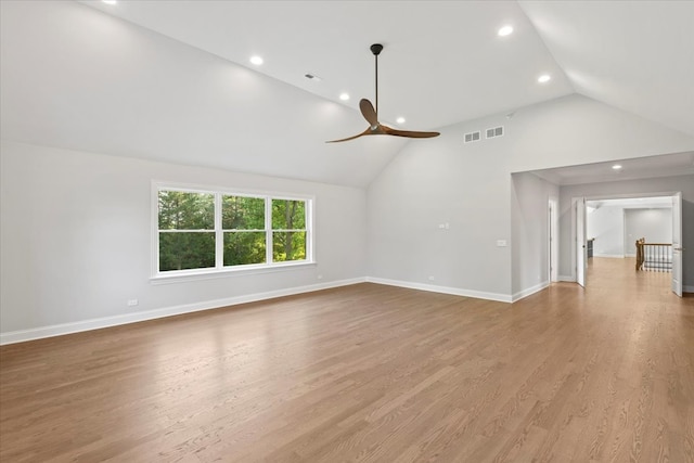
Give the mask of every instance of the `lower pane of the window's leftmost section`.
[{"label": "lower pane of the window's leftmost section", "polygon": [[159,233],[159,271],[215,267],[215,233]]}]

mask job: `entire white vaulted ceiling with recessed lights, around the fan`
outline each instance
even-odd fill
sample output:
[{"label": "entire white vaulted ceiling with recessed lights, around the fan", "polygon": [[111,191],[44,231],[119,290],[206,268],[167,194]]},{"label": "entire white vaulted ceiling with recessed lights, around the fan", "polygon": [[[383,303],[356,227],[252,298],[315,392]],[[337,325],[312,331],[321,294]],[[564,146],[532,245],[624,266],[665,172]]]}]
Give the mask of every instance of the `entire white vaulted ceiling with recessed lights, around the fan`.
[{"label": "entire white vaulted ceiling with recessed lights, around the fan", "polygon": [[[580,93],[694,137],[691,1],[0,8],[1,130],[17,141],[364,187],[409,141],[324,141],[365,128],[357,105],[373,101],[374,42],[381,119],[397,127],[445,137]],[[504,25],[514,31],[501,37]]]}]

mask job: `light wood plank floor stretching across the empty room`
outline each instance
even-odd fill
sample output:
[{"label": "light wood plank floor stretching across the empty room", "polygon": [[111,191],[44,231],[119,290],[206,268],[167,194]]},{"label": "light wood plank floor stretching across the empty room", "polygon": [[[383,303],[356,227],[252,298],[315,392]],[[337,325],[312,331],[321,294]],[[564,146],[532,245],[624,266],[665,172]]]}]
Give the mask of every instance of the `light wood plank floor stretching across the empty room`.
[{"label": "light wood plank floor stretching across the empty room", "polygon": [[694,298],[359,284],[4,346],[0,461],[693,462]]}]

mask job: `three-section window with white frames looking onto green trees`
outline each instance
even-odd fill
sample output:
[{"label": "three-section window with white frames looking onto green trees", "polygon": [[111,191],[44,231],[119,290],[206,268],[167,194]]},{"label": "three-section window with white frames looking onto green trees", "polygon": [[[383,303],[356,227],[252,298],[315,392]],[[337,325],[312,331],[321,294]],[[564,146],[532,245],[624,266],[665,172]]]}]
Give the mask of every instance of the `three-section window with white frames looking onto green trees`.
[{"label": "three-section window with white frames looking onto green trees", "polygon": [[311,200],[155,185],[157,276],[311,261]]}]

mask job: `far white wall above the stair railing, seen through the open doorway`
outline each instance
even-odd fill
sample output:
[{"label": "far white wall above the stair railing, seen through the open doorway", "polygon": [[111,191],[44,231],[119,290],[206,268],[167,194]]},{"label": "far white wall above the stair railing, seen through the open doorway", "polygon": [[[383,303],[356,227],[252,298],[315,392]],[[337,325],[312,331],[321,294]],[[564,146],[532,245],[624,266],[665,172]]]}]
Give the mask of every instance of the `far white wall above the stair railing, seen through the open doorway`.
[{"label": "far white wall above the stair railing, seen through the open doorway", "polygon": [[672,244],[672,209],[625,209],[626,252],[637,255],[635,241],[645,237],[646,243]]}]

